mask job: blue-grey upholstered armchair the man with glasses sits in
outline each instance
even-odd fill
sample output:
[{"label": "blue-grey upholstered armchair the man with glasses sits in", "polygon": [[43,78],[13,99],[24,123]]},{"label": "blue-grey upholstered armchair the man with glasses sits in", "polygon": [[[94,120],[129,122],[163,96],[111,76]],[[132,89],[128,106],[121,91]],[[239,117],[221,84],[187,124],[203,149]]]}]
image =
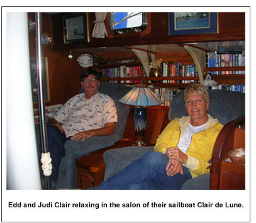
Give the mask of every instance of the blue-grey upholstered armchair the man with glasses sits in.
[{"label": "blue-grey upholstered armchair the man with glasses sits in", "polygon": [[[115,142],[123,138],[123,132],[126,126],[126,120],[130,111],[130,106],[123,105],[118,100],[131,90],[130,86],[114,83],[101,83],[99,92],[111,96],[118,112],[118,122],[114,127],[113,135],[103,137],[86,138],[84,142],[68,140],[65,143],[65,157],[60,163],[60,171],[56,189],[77,188],[77,170],[75,160],[100,148],[110,147]],[[82,93],[81,90],[79,93]]]}]

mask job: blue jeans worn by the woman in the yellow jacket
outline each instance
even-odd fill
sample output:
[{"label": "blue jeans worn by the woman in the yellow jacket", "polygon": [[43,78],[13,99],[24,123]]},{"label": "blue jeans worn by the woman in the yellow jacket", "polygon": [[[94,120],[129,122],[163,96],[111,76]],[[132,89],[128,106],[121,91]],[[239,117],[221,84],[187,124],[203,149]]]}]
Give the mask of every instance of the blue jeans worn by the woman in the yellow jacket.
[{"label": "blue jeans worn by the woman in the yellow jacket", "polygon": [[184,174],[168,176],[165,167],[168,158],[164,153],[148,152],[142,158],[128,165],[120,173],[105,180],[94,189],[99,190],[170,190],[181,189],[191,174],[183,167]]}]

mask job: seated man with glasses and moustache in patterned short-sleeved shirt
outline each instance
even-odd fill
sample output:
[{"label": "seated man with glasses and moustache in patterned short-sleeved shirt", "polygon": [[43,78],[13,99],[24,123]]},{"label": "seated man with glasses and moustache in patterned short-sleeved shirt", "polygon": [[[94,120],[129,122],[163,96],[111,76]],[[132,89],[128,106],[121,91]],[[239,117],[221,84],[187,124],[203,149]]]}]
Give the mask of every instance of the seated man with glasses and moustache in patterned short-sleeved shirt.
[{"label": "seated man with glasses and moustache in patterned short-sleeved shirt", "polygon": [[65,156],[64,144],[68,139],[84,141],[93,136],[112,135],[117,112],[114,101],[99,93],[99,78],[96,70],[81,73],[84,93],[70,98],[48,121],[48,150],[52,158],[53,187],[57,182],[58,169]]}]

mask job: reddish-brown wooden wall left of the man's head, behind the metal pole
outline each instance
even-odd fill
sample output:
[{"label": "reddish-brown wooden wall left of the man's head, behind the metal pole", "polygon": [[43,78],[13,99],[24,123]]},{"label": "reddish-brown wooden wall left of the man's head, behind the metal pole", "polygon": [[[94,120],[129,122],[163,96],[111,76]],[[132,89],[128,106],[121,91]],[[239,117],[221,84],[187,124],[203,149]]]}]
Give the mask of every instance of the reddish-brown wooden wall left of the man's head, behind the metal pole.
[{"label": "reddish-brown wooden wall left of the man's head, behind the metal pole", "polygon": [[[35,13],[28,13],[28,19],[35,21]],[[52,19],[49,14],[42,13],[42,33],[48,33],[53,37]],[[30,57],[36,56],[35,30],[29,32]],[[65,103],[71,96],[76,95],[81,88],[80,73],[82,67],[76,61],[81,53],[72,53],[73,58],[68,58],[69,50],[54,51],[54,42],[42,47],[43,57],[48,57],[48,74],[50,85],[50,102],[48,105]],[[35,105],[37,107],[38,105]]]}]

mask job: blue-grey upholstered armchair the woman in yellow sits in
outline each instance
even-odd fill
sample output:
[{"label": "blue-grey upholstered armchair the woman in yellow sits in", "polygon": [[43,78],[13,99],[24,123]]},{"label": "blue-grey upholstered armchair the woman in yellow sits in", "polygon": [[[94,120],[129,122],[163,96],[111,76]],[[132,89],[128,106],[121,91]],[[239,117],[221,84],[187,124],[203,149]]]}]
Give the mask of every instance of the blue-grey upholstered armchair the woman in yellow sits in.
[{"label": "blue-grey upholstered armchair the woman in yellow sits in", "polygon": [[[209,92],[209,114],[218,118],[223,125],[245,115],[245,94],[236,91],[208,90]],[[175,95],[170,103],[169,120],[187,115],[184,107],[183,92]],[[106,171],[104,179],[123,170],[126,165],[142,157],[145,153],[152,151],[153,147],[124,147],[108,150],[104,153]],[[200,175],[194,179],[187,180],[182,189],[209,189],[210,174]]]}]

